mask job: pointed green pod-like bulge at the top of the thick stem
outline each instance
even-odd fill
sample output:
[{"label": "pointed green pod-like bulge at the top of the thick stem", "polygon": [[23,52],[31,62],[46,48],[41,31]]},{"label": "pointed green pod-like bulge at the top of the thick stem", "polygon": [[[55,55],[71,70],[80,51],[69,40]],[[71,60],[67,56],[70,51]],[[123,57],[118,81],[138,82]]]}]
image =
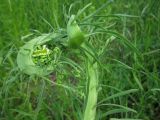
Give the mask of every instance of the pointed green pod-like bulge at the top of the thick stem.
[{"label": "pointed green pod-like bulge at the top of the thick stem", "polygon": [[67,24],[68,44],[72,48],[78,48],[85,40],[84,33],[81,31],[75,21],[75,15],[72,15]]}]

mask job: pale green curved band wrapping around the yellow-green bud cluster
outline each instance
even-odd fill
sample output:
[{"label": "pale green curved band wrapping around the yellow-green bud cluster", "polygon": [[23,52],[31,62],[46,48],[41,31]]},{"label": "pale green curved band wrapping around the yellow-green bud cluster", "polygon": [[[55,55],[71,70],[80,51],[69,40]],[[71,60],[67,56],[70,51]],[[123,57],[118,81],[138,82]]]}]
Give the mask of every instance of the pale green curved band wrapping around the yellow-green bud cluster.
[{"label": "pale green curved band wrapping around the yellow-green bud cluster", "polygon": [[17,64],[20,70],[28,75],[47,75],[49,73],[48,69],[46,67],[42,68],[41,66],[37,66],[32,60],[32,54],[35,46],[51,41],[55,37],[57,37],[57,34],[55,33],[43,34],[22,46],[17,55]]}]

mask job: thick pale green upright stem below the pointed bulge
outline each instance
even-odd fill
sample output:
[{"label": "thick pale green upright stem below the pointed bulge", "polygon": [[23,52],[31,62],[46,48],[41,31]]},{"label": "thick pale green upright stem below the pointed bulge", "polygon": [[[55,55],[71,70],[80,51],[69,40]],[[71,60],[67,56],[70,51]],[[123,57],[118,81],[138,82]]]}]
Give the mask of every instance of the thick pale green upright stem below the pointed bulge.
[{"label": "thick pale green upright stem below the pointed bulge", "polygon": [[[92,52],[92,51],[91,51]],[[97,62],[93,64],[93,57],[86,53],[87,57],[87,72],[89,78],[89,89],[87,105],[84,113],[84,120],[95,120],[96,105],[97,105],[97,86],[98,86],[98,65]]]}]

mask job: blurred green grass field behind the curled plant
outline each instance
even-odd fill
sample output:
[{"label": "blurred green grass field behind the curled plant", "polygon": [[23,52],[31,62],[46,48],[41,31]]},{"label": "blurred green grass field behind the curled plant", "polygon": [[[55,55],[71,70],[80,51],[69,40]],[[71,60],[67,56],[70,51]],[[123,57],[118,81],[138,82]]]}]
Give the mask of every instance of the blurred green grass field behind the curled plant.
[{"label": "blurred green grass field behind the curled plant", "polygon": [[[81,120],[85,108],[85,73],[65,65],[49,79],[79,92],[52,85],[21,73],[17,52],[26,41],[22,36],[49,33],[66,28],[71,14],[92,3],[83,16],[98,9],[106,0],[0,0],[0,119],[1,120]],[[140,55],[117,40],[111,41],[100,58],[105,67],[100,76],[97,119],[160,119],[160,2],[158,0],[115,0],[93,19],[93,24],[125,36]],[[106,17],[118,16],[118,17]],[[79,23],[83,19],[80,18]],[[47,23],[47,22],[49,23]],[[96,30],[92,22],[87,30]],[[85,29],[85,22],[82,23]],[[89,24],[89,23],[87,23]],[[52,27],[53,28],[52,28]],[[86,30],[86,31],[87,31]],[[104,48],[111,35],[92,38],[95,50]],[[81,53],[62,50],[62,56],[84,64]],[[78,55],[77,55],[78,54]],[[77,57],[74,57],[76,56]],[[81,58],[81,59],[79,59]],[[63,74],[61,74],[63,73]],[[56,78],[56,79],[55,79]],[[102,104],[103,103],[103,104]],[[116,104],[116,105],[115,105]],[[119,105],[119,106],[117,106]],[[134,109],[130,110],[129,107]]]}]

